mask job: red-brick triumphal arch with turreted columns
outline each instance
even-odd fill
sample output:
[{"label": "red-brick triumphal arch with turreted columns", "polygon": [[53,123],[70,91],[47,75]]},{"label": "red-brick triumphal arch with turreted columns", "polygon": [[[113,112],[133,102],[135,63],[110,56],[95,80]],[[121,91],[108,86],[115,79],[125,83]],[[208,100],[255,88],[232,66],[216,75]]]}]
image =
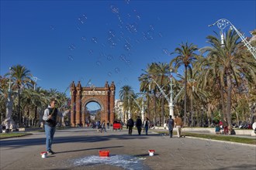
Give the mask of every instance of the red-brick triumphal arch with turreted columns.
[{"label": "red-brick triumphal arch with turreted columns", "polygon": [[114,82],[105,83],[105,87],[81,87],[80,81],[75,86],[71,83],[71,126],[77,124],[85,126],[85,106],[94,101],[101,107],[101,121],[113,123],[115,119],[115,91]]}]

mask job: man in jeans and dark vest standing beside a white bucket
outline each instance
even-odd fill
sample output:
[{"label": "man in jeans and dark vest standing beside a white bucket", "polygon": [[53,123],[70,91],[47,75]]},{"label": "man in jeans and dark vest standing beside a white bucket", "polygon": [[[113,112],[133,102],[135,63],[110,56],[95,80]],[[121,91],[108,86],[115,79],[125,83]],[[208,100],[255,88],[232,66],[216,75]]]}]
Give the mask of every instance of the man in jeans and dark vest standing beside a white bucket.
[{"label": "man in jeans and dark vest standing beside a white bucket", "polygon": [[51,145],[54,141],[54,134],[56,131],[57,125],[57,116],[62,116],[62,113],[56,107],[57,100],[51,99],[50,105],[44,110],[43,121],[44,122],[44,131],[46,135],[46,148],[48,155],[54,155],[55,152],[51,149]]}]

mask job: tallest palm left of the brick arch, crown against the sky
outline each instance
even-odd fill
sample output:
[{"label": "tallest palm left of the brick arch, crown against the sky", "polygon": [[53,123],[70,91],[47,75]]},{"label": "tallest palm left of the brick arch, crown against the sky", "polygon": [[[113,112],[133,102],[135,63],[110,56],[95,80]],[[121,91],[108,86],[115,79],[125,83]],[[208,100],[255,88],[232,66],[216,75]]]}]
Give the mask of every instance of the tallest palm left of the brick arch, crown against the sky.
[{"label": "tallest palm left of the brick arch, crown against the sky", "polygon": [[20,90],[22,87],[33,87],[32,74],[30,70],[27,70],[25,66],[16,65],[12,66],[9,73],[6,73],[5,76],[12,77],[12,83],[18,89],[18,121],[19,126],[21,125],[21,114],[20,114]]}]

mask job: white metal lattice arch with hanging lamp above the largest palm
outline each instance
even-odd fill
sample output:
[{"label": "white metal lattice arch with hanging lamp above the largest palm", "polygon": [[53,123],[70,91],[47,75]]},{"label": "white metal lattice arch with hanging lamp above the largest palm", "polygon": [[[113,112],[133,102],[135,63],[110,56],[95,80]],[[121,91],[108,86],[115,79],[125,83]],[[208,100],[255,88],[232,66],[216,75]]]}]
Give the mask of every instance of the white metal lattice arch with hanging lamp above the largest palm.
[{"label": "white metal lattice arch with hanging lamp above the largest palm", "polygon": [[[250,42],[248,42],[246,40],[246,38],[243,36],[243,34],[241,34],[237,28],[227,19],[219,19],[218,21],[216,21],[215,23],[209,25],[209,26],[215,26],[217,24],[217,26],[219,27],[219,29],[223,30],[225,29],[227,26],[230,26],[230,29],[234,29],[238,36],[240,37],[240,39],[242,39],[242,42],[244,42],[244,46],[247,47],[247,49],[251,52],[252,56],[254,56],[254,59],[256,59],[256,49],[251,46]],[[221,35],[221,40],[223,43],[223,34]]]}]

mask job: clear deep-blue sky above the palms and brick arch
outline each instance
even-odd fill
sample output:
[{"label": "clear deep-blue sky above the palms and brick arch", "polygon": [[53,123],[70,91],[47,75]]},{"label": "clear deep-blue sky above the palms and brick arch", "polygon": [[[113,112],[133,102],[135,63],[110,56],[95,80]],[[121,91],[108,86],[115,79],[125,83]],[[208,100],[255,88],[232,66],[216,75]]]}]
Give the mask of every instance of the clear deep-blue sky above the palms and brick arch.
[{"label": "clear deep-blue sky above the palms and brick arch", "polygon": [[[1,75],[22,64],[38,86],[106,81],[139,92],[147,63],[169,63],[181,42],[207,46],[218,19],[250,36],[255,1],[1,1]],[[182,70],[180,70],[182,72]],[[69,94],[69,92],[67,91]]]}]

